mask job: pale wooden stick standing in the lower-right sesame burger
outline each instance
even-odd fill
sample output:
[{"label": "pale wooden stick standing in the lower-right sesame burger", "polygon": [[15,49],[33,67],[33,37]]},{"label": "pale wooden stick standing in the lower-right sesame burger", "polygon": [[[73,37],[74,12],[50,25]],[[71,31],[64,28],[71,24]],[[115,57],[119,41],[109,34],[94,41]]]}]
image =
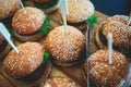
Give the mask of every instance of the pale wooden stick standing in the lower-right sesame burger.
[{"label": "pale wooden stick standing in the lower-right sesame burger", "polygon": [[111,51],[112,51],[112,34],[111,33],[109,33],[108,35],[107,35],[107,39],[108,39],[108,59],[109,59],[109,64],[111,64],[112,63],[112,53],[111,53]]}]

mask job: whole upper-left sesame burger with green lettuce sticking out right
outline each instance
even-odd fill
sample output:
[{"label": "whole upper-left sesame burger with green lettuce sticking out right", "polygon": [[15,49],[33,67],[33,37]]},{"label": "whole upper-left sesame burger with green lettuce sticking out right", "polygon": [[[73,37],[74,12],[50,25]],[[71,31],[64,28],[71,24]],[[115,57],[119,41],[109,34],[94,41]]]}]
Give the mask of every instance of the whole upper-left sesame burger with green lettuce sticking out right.
[{"label": "whole upper-left sesame burger with green lettuce sticking out right", "polygon": [[49,28],[49,17],[36,8],[20,9],[13,16],[14,36],[21,41],[36,41],[43,38]]}]

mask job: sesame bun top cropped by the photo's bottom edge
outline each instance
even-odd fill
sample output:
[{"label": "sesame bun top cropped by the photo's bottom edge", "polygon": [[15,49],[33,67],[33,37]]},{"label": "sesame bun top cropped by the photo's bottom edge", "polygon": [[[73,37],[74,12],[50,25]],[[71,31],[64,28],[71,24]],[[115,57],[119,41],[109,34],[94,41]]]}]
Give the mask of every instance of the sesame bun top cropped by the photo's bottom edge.
[{"label": "sesame bun top cropped by the photo's bottom edge", "polygon": [[80,87],[74,80],[61,76],[50,77],[40,87]]}]

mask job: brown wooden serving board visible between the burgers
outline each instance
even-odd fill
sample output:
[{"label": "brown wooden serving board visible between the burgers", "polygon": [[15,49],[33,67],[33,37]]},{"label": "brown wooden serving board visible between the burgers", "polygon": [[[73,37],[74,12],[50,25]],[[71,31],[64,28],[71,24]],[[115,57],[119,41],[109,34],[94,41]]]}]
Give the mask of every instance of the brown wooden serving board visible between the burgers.
[{"label": "brown wooden serving board visible between the burgers", "polygon": [[[95,29],[98,27],[99,23],[102,23],[103,21],[105,21],[108,17],[107,15],[105,15],[100,12],[97,12],[97,11],[95,11],[95,14],[98,16],[98,24],[90,27],[90,30],[91,30],[90,47],[92,47],[90,49],[91,53],[95,52],[98,49],[95,44],[95,40],[94,40]],[[49,14],[49,17],[51,18],[51,21],[50,21],[51,28],[62,25],[61,18],[57,12]],[[41,39],[39,41],[39,44],[41,44],[44,46],[44,41],[45,41],[45,39]],[[19,42],[15,42],[15,44],[19,45]],[[82,87],[87,87],[86,82],[84,82],[82,78],[81,70],[82,70],[82,66],[80,64],[78,64],[75,66],[71,66],[71,67],[62,67],[62,66],[52,65],[52,72],[51,72],[50,76],[70,77],[70,78],[74,79],[78,84],[80,84]],[[21,87],[19,84],[15,84],[4,73],[3,67],[2,67],[2,62],[0,63],[0,87]]]}]

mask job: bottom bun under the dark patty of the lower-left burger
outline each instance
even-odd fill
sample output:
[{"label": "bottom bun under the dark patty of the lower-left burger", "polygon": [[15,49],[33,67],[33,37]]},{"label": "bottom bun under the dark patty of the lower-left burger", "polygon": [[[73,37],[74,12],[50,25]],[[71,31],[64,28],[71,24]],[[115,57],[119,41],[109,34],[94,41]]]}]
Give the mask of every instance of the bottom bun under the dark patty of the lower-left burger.
[{"label": "bottom bun under the dark patty of the lower-left burger", "polygon": [[[15,79],[15,78],[11,78],[11,80],[14,82],[15,84],[17,84],[20,87],[38,87],[41,82],[45,82],[49,77],[49,75],[51,73],[51,67],[52,67],[51,62],[50,61],[47,62],[47,65],[46,65],[46,69],[44,71],[43,75],[36,82],[24,82],[24,80]],[[37,73],[39,73],[39,72],[37,72]]]}]

